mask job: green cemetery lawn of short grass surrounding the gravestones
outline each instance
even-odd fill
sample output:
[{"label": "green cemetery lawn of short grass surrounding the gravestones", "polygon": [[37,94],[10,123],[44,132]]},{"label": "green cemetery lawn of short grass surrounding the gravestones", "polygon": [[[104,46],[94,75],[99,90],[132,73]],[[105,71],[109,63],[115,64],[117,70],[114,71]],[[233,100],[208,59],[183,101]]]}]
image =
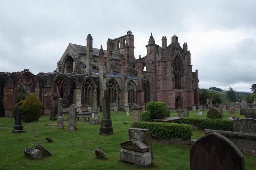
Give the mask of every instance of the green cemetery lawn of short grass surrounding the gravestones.
[{"label": "green cemetery lawn of short grass surrounding the gravestones", "polygon": [[[202,118],[206,117],[203,111]],[[234,114],[237,117],[239,111]],[[177,117],[175,111],[171,116]],[[228,119],[228,111],[224,111],[223,119]],[[143,167],[119,161],[120,143],[128,140],[128,129],[131,127],[132,114],[124,112],[111,113],[114,134],[99,135],[99,125],[89,125],[88,122],[77,122],[77,131],[68,131],[68,122],[64,121],[64,129],[44,124],[55,123],[49,120],[50,115],[42,115],[37,122],[23,123],[25,133],[12,134],[13,118],[0,118],[0,169],[143,169]],[[67,118],[68,115],[65,114]],[[189,111],[189,117],[199,117],[197,111]],[[100,120],[102,114],[100,114]],[[126,121],[128,125],[123,124]],[[35,137],[38,132],[38,138]],[[193,131],[191,138],[204,136],[204,131]],[[45,138],[54,141],[48,143]],[[39,142],[54,156],[43,159],[28,159],[24,157],[24,149]],[[93,153],[100,146],[106,159],[97,159]],[[189,148],[183,145],[153,143],[154,159],[147,169],[184,169],[189,168]],[[245,169],[256,169],[256,156],[244,154]]]}]

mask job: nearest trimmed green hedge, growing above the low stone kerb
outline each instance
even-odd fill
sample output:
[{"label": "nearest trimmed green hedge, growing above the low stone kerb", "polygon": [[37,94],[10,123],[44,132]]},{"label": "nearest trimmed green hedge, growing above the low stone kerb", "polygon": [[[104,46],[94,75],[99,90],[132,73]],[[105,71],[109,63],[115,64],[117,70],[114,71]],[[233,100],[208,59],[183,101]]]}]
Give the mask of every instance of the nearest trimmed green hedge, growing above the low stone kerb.
[{"label": "nearest trimmed green hedge, growing above the low stone kerb", "polygon": [[170,137],[185,140],[190,139],[192,135],[192,128],[187,124],[138,121],[133,123],[133,127],[150,129],[150,136],[157,140]]}]

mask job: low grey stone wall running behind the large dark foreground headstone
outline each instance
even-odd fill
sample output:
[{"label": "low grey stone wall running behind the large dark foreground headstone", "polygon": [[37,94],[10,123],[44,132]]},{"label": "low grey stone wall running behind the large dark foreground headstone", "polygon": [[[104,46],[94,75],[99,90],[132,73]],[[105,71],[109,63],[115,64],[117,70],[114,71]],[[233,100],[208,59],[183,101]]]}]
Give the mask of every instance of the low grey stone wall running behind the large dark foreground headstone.
[{"label": "low grey stone wall running behind the large dark foreground headstone", "polygon": [[205,129],[205,135],[217,132],[233,142],[241,152],[256,155],[256,134],[244,132],[232,132],[223,130]]}]

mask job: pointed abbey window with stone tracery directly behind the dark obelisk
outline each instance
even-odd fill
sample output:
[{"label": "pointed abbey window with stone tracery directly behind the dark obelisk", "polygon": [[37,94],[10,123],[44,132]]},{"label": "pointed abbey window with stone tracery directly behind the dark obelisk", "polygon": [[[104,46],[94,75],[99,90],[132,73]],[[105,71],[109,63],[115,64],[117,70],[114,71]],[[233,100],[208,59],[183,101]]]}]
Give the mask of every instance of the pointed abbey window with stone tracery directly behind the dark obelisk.
[{"label": "pointed abbey window with stone tracery directly behind the dark obelisk", "polygon": [[82,85],[82,104],[93,103],[94,86],[92,81],[88,78]]}]

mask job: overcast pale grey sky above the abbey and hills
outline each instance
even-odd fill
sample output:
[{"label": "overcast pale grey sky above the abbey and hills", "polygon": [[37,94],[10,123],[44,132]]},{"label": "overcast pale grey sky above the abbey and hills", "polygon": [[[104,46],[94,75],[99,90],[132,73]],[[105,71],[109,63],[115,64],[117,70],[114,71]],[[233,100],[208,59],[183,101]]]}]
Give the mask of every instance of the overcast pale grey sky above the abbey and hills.
[{"label": "overcast pale grey sky above the abbey and hills", "polygon": [[0,71],[52,72],[68,43],[106,49],[131,30],[135,57],[146,55],[150,33],[167,45],[188,43],[199,88],[251,92],[256,83],[256,1],[1,1]]}]

